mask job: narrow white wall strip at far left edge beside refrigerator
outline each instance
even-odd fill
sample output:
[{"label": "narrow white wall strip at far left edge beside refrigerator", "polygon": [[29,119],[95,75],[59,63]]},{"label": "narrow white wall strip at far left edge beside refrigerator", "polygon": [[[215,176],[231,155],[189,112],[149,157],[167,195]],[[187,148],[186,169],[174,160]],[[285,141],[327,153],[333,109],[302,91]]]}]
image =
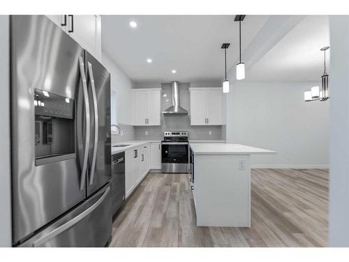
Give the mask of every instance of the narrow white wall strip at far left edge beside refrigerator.
[{"label": "narrow white wall strip at far left edge beside refrigerator", "polygon": [[11,246],[8,15],[0,15],[0,247]]}]

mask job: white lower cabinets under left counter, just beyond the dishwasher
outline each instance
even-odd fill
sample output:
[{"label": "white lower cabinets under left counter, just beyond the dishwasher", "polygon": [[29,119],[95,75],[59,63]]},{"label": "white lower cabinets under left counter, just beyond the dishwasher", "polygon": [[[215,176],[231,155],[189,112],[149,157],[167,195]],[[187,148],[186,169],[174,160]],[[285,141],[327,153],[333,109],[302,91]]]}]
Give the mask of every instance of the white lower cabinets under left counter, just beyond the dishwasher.
[{"label": "white lower cabinets under left counter, just beyond the dishwasher", "polygon": [[126,198],[140,184],[150,169],[150,143],[125,152]]}]

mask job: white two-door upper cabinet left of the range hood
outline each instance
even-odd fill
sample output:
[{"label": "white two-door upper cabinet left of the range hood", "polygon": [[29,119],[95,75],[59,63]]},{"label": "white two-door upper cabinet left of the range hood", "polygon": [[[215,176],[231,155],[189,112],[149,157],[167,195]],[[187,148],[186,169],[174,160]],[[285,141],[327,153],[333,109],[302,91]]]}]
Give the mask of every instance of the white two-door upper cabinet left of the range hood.
[{"label": "white two-door upper cabinet left of the range hood", "polygon": [[161,89],[133,89],[133,125],[161,125]]}]

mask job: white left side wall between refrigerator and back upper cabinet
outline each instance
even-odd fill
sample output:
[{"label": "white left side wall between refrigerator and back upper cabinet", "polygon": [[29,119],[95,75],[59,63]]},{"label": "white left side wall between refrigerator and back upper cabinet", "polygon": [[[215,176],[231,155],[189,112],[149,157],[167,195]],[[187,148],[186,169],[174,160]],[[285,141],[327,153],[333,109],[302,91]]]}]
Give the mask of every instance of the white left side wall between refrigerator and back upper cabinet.
[{"label": "white left side wall between refrigerator and back upper cabinet", "polygon": [[132,81],[105,52],[102,53],[102,63],[111,74],[111,88],[117,92],[117,121],[132,124]]}]

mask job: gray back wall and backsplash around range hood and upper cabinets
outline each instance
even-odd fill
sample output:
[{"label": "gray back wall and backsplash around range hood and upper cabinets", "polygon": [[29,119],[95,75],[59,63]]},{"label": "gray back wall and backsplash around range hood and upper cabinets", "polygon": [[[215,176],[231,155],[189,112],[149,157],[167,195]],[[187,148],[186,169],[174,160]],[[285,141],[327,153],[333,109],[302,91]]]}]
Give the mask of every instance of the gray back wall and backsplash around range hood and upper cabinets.
[{"label": "gray back wall and backsplash around range hood and upper cabinets", "polygon": [[[136,88],[149,88],[158,87],[156,84],[138,84]],[[191,85],[189,83],[179,84],[179,105],[182,108],[188,110],[189,115],[186,116],[162,116],[162,126],[135,126],[135,139],[148,140],[156,139],[161,140],[163,138],[163,131],[189,131],[189,139],[191,140],[225,140],[225,126],[191,126],[190,120],[190,93],[189,87],[212,87],[214,83],[206,84],[200,83],[200,85]],[[161,111],[172,105],[172,87],[170,83],[161,84]],[[165,96],[164,96],[165,95]],[[148,135],[145,135],[145,132]],[[211,136],[209,136],[211,131]]]}]

